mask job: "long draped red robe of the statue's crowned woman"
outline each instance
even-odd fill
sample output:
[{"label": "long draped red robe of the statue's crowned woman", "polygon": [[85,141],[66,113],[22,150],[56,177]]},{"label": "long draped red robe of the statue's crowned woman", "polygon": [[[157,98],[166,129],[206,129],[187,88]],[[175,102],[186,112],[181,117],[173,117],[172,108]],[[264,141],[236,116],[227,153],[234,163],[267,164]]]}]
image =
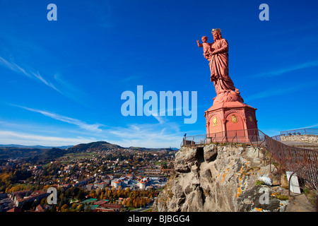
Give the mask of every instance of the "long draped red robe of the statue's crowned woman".
[{"label": "long draped red robe of the statue's crowned woman", "polygon": [[216,88],[216,95],[235,91],[234,84],[228,74],[228,42],[225,39],[216,40],[211,44],[210,70],[211,81]]}]

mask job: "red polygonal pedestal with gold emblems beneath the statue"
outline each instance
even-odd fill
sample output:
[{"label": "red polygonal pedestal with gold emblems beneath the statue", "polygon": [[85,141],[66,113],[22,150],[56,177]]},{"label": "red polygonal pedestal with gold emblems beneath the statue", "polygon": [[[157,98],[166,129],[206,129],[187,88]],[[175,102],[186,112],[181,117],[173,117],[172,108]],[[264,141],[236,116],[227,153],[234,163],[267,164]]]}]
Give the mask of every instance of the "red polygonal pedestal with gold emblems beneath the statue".
[{"label": "red polygonal pedestal with gold emblems beneath the statue", "polygon": [[[206,134],[211,142],[245,141],[257,131],[256,108],[243,102],[214,102],[206,110]],[[224,141],[224,138],[227,141]],[[232,141],[230,141],[232,139]]]}]

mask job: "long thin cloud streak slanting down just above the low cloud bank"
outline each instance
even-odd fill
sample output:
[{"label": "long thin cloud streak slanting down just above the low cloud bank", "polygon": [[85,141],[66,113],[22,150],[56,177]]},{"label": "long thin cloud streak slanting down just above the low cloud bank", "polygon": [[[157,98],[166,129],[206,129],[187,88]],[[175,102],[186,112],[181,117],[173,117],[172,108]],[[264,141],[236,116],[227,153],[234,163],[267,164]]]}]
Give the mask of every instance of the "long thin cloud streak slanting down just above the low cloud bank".
[{"label": "long thin cloud streak slanting down just above the low cloud bank", "polygon": [[18,105],[13,105],[13,106],[26,109],[30,112],[37,112],[37,113],[43,114],[47,117],[50,117],[52,119],[64,121],[68,124],[73,124],[73,125],[79,126],[81,129],[85,129],[87,131],[98,132],[98,133],[102,132],[102,129],[100,129],[100,126],[103,126],[102,124],[87,124],[86,122],[78,120],[78,119],[72,119],[70,117],[65,117],[65,116],[60,115],[60,114],[55,114],[55,113],[43,111],[40,109],[33,109],[33,108],[22,107],[22,106],[18,106]]}]

